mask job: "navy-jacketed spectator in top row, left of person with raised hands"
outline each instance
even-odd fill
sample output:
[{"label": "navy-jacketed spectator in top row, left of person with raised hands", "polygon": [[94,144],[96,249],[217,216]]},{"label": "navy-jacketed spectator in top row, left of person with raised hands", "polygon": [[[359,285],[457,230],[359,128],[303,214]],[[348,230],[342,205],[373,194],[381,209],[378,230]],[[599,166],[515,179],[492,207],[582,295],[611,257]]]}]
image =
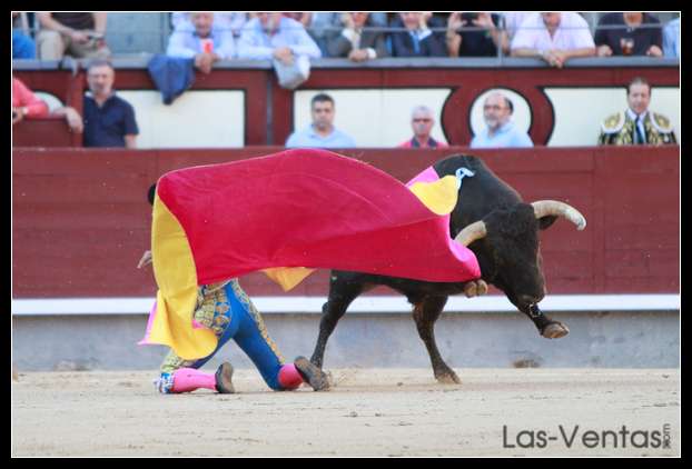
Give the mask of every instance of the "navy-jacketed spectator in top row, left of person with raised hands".
[{"label": "navy-jacketed spectator in top row, left of person with raised hands", "polygon": [[428,22],[433,28],[439,26],[438,21],[432,13],[422,11],[398,13],[392,21],[392,28],[406,28],[406,31],[392,32],[392,56],[445,57],[447,51],[444,39],[428,27]]}]

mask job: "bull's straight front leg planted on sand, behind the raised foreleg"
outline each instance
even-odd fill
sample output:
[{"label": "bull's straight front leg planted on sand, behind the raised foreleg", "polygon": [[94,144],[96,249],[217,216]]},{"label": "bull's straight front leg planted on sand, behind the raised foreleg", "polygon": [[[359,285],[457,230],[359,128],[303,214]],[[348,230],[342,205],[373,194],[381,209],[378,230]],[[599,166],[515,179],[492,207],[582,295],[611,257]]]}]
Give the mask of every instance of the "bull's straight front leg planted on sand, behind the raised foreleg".
[{"label": "bull's straight front leg planted on sand, behind the raised foreleg", "polygon": [[435,342],[435,321],[437,321],[439,315],[442,315],[442,310],[446,302],[447,297],[425,297],[422,301],[414,305],[413,318],[416,321],[418,336],[423,339],[423,343],[425,343],[427,353],[431,357],[435,379],[445,385],[461,385],[462,380],[442,359],[439,350],[437,350],[437,343]]}]

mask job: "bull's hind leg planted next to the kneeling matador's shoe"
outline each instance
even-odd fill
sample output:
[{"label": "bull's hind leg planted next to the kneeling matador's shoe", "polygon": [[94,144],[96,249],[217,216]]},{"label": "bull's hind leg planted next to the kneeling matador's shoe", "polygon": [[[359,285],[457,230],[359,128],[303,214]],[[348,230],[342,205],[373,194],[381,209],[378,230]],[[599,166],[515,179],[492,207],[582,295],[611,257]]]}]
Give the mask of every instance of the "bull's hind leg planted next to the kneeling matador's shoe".
[{"label": "bull's hind leg planted next to the kneeling matador's shoe", "polygon": [[329,298],[322,307],[322,319],[319,320],[319,336],[315,345],[315,351],[310,361],[322,368],[325,357],[327,340],[337,322],[346,313],[346,310],[360,293],[365,290],[363,283],[333,281],[329,285]]}]

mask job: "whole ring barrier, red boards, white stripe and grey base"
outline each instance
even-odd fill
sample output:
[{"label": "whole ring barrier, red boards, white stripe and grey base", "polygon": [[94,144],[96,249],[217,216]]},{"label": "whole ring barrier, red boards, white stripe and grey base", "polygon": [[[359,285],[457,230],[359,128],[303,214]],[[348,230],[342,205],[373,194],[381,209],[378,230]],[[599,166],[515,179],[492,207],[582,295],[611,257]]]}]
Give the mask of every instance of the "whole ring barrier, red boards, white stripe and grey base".
[{"label": "whole ring barrier, red boards, white stripe and grey base", "polygon": [[[149,186],[177,168],[280,150],[16,148],[18,369],[155,369],[165,350],[136,346],[156,291],[151,270],[136,268],[150,239]],[[541,236],[548,289],[542,308],[565,322],[570,335],[541,338],[496,290],[484,298],[451,298],[436,327],[451,366],[679,366],[679,147],[340,152],[402,181],[448,154],[477,154],[525,200],[564,200],[586,217],[584,231],[558,221]],[[317,271],[287,295],[264,275],[246,276],[241,283],[283,353],[309,355],[328,271]],[[376,289],[352,311],[329,342],[327,367],[429,366],[403,297]],[[209,367],[224,359],[251,367],[234,346]]]}]

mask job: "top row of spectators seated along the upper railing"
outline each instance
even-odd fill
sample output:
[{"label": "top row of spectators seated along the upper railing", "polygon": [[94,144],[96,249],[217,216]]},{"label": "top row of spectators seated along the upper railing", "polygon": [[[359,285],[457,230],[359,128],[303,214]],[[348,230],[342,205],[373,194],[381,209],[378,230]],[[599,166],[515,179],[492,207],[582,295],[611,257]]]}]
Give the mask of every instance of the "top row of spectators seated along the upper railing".
[{"label": "top row of spectators seated along the upper railing", "polygon": [[[106,58],[103,12],[13,12],[13,58]],[[266,59],[267,49],[354,61],[383,57],[680,57],[680,19],[654,13],[603,14],[592,36],[574,12],[215,12],[170,13],[168,53],[189,57],[209,47],[220,59]],[[569,52],[569,53],[567,53]],[[287,52],[281,52],[286,56]]]}]

